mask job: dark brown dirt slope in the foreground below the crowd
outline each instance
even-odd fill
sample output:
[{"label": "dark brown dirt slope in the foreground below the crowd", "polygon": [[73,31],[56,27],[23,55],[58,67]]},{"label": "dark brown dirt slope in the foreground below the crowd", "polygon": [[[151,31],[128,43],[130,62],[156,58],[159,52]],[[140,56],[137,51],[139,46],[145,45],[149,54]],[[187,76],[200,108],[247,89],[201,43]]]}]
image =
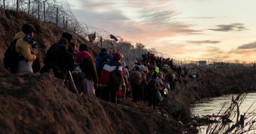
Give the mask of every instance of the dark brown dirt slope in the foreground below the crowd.
[{"label": "dark brown dirt slope in the foreground below the crowd", "polygon": [[178,133],[145,104],[112,104],[71,93],[52,73],[0,77],[0,133]]}]

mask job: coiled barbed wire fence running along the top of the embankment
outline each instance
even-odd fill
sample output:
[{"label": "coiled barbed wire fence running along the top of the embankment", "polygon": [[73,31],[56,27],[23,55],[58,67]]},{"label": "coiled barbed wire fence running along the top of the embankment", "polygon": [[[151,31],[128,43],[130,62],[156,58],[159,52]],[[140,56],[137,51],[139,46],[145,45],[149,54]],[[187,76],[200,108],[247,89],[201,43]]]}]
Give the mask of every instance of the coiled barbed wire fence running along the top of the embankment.
[{"label": "coiled barbed wire fence running along the top of the embankment", "polygon": [[239,60],[224,61],[221,59],[212,58],[181,58],[175,55],[163,54],[159,51],[151,51],[150,49],[138,51],[137,49],[134,49],[132,42],[126,41],[120,36],[116,36],[118,41],[115,41],[114,39],[110,38],[109,32],[101,28],[90,26],[84,22],[79,22],[76,16],[72,13],[67,0],[1,0],[0,6],[8,10],[26,12],[27,14],[36,16],[38,19],[45,22],[56,23],[59,27],[75,32],[85,39],[88,39],[89,34],[93,34],[95,32],[96,38],[93,41],[94,44],[100,44],[100,47],[122,51],[124,58],[130,62],[140,57],[142,53],[150,51],[151,53],[154,53],[156,57],[172,58],[176,65],[196,65],[198,61],[206,61],[208,65],[213,65],[214,63],[223,61],[225,63],[236,63],[237,65],[244,64],[245,66],[252,66],[252,63],[246,63]]}]

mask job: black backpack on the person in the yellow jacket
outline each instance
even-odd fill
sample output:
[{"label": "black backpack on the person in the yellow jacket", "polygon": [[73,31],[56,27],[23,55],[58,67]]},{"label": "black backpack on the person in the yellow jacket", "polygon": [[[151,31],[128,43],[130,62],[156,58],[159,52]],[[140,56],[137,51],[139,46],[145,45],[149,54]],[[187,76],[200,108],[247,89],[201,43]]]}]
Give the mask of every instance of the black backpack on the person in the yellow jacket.
[{"label": "black backpack on the person in the yellow jacket", "polygon": [[19,53],[16,52],[16,42],[18,39],[15,39],[11,42],[10,46],[4,53],[4,67],[10,68],[11,73],[16,73],[16,69],[18,67],[18,61],[21,59],[19,57]]}]

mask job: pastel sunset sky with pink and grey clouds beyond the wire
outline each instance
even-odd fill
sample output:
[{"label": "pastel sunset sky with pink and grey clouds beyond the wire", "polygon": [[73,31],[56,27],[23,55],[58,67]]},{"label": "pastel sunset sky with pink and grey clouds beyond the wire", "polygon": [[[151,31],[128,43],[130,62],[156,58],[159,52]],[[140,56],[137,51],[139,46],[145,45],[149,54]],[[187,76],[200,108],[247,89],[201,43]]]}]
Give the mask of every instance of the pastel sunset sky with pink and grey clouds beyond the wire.
[{"label": "pastel sunset sky with pink and grey clouds beyond the wire", "polygon": [[[69,1],[70,2],[70,1]],[[78,21],[175,57],[256,61],[256,0],[72,0]]]}]

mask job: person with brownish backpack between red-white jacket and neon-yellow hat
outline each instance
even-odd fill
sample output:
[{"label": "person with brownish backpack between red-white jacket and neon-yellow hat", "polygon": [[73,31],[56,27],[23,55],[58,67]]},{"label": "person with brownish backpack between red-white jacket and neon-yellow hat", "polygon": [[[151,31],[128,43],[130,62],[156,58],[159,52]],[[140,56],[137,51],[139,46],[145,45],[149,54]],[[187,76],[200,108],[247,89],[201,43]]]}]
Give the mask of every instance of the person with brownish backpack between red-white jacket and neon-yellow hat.
[{"label": "person with brownish backpack between red-white jacket and neon-yellow hat", "polygon": [[134,102],[138,101],[138,91],[140,90],[141,83],[142,83],[141,73],[139,72],[139,69],[140,69],[139,66],[136,65],[134,67],[134,71],[130,73],[130,80],[132,85],[132,97]]}]

